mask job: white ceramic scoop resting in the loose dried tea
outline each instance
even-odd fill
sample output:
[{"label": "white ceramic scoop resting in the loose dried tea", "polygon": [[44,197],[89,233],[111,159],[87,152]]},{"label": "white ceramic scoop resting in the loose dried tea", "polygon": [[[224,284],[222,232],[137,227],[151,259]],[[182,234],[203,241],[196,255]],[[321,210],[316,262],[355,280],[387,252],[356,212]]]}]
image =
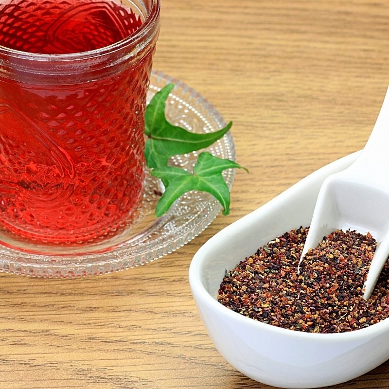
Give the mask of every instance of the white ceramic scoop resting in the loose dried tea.
[{"label": "white ceramic scoop resting in the loose dried tea", "polygon": [[370,232],[377,240],[364,285],[363,297],[368,300],[389,254],[389,88],[359,157],[324,180],[300,263],[310,248],[336,229]]}]

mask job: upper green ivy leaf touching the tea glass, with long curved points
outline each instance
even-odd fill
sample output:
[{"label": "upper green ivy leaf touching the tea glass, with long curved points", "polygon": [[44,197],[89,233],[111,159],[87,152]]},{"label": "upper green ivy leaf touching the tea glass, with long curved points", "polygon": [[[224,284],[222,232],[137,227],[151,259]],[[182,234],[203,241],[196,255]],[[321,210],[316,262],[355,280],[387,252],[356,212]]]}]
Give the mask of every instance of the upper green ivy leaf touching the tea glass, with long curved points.
[{"label": "upper green ivy leaf touching the tea glass, with long curved points", "polygon": [[175,155],[191,153],[210,146],[230,130],[232,122],[226,127],[211,133],[198,134],[170,124],[165,117],[166,100],[174,84],[168,84],[151,99],[145,112],[145,130],[148,137],[144,155],[149,169],[167,166]]}]

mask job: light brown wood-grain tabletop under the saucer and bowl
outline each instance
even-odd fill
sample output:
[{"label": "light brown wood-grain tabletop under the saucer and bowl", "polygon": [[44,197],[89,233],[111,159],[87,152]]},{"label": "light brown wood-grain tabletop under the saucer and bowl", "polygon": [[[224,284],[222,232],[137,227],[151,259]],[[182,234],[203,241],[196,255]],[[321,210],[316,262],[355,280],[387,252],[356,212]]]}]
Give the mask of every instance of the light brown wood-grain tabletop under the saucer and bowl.
[{"label": "light brown wood-grain tabletop under the saucer and bowl", "polygon": [[[269,388],[214,349],[188,267],[217,231],[363,147],[389,84],[389,3],[161,2],[155,69],[234,122],[249,174],[229,216],[154,263],[73,281],[1,274],[1,388]],[[336,388],[389,388],[389,363]]]}]

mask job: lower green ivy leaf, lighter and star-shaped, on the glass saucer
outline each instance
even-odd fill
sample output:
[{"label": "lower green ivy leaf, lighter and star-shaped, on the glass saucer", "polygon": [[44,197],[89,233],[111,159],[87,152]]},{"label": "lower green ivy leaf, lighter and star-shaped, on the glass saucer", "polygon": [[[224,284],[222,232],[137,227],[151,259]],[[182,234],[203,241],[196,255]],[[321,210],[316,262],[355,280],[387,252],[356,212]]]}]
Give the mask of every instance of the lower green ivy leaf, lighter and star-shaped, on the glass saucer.
[{"label": "lower green ivy leaf, lighter and star-shaped, on the glass saucer", "polygon": [[[230,168],[242,168],[230,159],[214,157],[209,152],[198,156],[193,173],[175,166],[161,166],[151,174],[165,184],[165,192],[159,199],[155,215],[162,216],[178,197],[186,192],[198,190],[213,195],[223,206],[223,214],[230,213],[230,191],[223,179],[222,172]],[[242,168],[245,169],[245,168]],[[247,171],[247,169],[245,169]]]}]

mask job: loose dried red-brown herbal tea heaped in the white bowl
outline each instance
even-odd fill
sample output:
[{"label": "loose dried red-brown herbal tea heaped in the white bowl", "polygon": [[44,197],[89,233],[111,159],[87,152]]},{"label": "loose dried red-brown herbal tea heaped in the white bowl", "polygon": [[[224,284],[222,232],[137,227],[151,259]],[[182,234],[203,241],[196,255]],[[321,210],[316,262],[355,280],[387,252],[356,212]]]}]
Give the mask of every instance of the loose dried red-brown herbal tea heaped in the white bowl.
[{"label": "loose dried red-brown herbal tea heaped in the white bowl", "polygon": [[336,230],[298,264],[308,228],[291,230],[259,248],[220,284],[218,301],[249,318],[311,333],[340,333],[389,316],[389,265],[369,301],[363,284],[377,246],[370,233]]}]

